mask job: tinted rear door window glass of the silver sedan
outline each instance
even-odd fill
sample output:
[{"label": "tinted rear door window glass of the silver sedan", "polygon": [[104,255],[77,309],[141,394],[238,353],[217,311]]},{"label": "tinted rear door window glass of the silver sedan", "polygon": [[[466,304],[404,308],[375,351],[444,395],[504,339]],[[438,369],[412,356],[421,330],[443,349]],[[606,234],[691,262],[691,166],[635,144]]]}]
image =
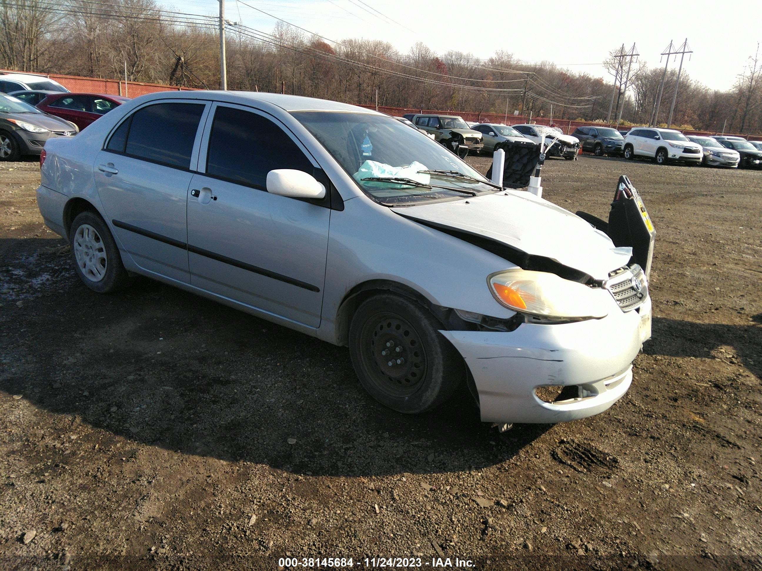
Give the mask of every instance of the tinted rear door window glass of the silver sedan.
[{"label": "tinted rear door window glass of the silver sedan", "polygon": [[162,103],[132,117],[125,152],[173,167],[190,168],[203,104]]}]

